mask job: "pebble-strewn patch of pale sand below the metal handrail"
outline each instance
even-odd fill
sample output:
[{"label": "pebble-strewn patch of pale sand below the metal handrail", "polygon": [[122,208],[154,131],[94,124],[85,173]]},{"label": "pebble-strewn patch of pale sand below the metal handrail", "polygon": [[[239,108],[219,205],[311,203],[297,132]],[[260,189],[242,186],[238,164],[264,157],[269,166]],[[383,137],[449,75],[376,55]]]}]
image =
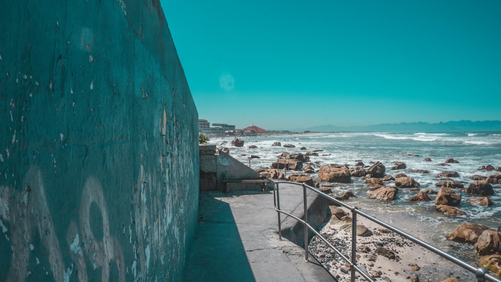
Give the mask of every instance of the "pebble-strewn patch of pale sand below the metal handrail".
[{"label": "pebble-strewn patch of pale sand below the metal handrail", "polygon": [[[351,215],[346,208],[331,206],[331,210],[333,209],[342,209]],[[339,213],[339,210],[334,212]],[[476,281],[474,274],[367,218],[358,216],[357,223],[357,229],[362,224],[372,232],[368,236],[357,236],[357,264],[365,267],[374,280],[443,281],[456,277],[460,281]],[[342,253],[350,256],[351,246],[347,242],[351,241],[351,217],[341,220],[333,215],[320,233],[328,237]],[[349,269],[349,265],[322,240],[312,238],[309,248],[339,281],[350,280],[350,272],[344,271]],[[382,248],[390,252],[384,253]],[[359,274],[357,277],[365,280]]]}]

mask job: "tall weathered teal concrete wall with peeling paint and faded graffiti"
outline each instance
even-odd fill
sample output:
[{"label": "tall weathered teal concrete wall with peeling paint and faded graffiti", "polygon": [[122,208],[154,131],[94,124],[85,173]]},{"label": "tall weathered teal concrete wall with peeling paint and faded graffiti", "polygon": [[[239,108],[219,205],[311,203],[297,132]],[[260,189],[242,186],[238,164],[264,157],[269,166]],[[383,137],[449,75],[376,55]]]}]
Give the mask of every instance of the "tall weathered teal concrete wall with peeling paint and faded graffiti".
[{"label": "tall weathered teal concrete wall with peeling paint and faded graffiti", "polygon": [[158,0],[0,10],[0,281],[183,280],[198,114]]}]

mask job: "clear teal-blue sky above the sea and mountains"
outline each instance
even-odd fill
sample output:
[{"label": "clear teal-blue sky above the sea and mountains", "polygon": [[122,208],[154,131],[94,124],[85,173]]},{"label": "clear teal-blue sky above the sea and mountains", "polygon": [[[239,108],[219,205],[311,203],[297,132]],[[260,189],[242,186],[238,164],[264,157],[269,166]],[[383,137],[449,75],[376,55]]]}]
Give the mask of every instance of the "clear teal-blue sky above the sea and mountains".
[{"label": "clear teal-blue sky above the sea and mountains", "polygon": [[501,120],[501,1],[160,2],[210,123]]}]

